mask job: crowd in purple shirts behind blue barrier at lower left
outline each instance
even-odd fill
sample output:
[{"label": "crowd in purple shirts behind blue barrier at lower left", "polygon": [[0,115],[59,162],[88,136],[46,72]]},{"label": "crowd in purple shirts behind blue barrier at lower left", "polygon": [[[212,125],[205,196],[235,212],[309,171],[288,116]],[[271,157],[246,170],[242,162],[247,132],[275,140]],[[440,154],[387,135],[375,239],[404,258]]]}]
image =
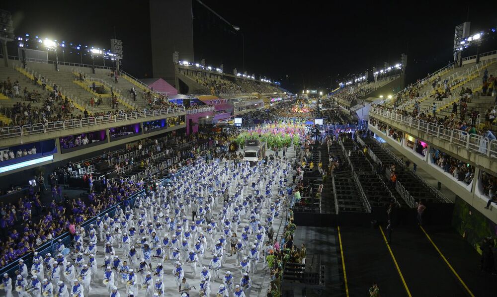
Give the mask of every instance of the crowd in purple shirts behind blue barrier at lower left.
[{"label": "crowd in purple shirts behind blue barrier at lower left", "polygon": [[[142,185],[109,180],[101,193],[90,193],[86,203],[81,199],[72,202],[54,200],[49,208],[42,207],[40,202],[44,187],[40,185],[38,192],[30,187],[28,194],[15,204],[0,203],[0,267],[68,231],[71,224],[83,223],[86,218],[123,201]],[[57,193],[59,188],[59,185],[54,185],[52,191]]]}]

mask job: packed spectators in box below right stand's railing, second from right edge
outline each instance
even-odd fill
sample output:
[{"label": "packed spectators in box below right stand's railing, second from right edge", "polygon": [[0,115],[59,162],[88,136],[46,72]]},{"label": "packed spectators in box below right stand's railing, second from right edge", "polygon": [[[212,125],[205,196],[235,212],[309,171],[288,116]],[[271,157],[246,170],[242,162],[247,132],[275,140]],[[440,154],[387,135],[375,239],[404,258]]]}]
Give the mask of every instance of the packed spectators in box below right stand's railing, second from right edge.
[{"label": "packed spectators in box below right stand's railing, second from right edge", "polygon": [[438,149],[431,149],[431,158],[433,164],[442,168],[444,172],[448,172],[458,181],[470,184],[475,175],[475,167],[467,164],[453,156],[446,154]]}]

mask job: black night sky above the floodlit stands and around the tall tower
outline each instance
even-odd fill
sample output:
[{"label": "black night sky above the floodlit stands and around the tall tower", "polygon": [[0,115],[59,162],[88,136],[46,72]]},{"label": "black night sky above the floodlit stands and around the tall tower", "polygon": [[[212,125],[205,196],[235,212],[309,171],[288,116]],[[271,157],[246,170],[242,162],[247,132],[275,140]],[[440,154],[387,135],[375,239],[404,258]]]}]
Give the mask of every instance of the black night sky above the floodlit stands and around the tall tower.
[{"label": "black night sky above the floodlit stands and around the tall tower", "polygon": [[[123,40],[123,69],[151,77],[148,1],[4,1],[13,14],[15,33],[109,48]],[[346,74],[362,74],[384,62],[400,62],[407,53],[408,82],[452,60],[454,26],[469,20],[471,32],[497,25],[495,5],[455,2],[386,1],[228,1],[204,0],[245,36],[248,74],[281,80],[292,91],[336,87]],[[43,3],[43,4],[42,4]],[[196,8],[196,9],[195,9]],[[195,62],[224,64],[242,71],[242,36],[194,1]],[[481,52],[497,49],[484,44]],[[17,55],[15,44],[10,54]],[[468,49],[463,56],[474,54]],[[167,55],[170,55],[167,53]],[[79,56],[66,55],[77,62]],[[83,63],[90,63],[83,56]],[[98,62],[97,62],[98,63]],[[286,79],[288,75],[288,80]]]}]

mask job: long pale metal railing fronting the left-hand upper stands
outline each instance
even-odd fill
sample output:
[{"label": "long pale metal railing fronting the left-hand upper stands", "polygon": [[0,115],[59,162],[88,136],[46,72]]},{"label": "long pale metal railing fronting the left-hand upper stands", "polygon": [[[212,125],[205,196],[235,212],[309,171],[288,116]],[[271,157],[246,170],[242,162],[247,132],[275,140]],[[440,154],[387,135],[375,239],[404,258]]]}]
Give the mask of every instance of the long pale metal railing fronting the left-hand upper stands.
[{"label": "long pale metal railing fronting the left-hand upper stands", "polygon": [[117,123],[122,121],[146,119],[149,117],[157,117],[163,115],[171,115],[175,113],[185,112],[184,107],[158,109],[140,112],[122,113],[116,115],[105,115],[98,117],[88,117],[82,119],[70,119],[58,122],[48,122],[45,124],[32,124],[24,126],[13,126],[0,128],[0,139],[8,139],[12,137],[27,136],[42,134],[53,131],[76,129],[88,126],[98,126],[106,123]]}]

